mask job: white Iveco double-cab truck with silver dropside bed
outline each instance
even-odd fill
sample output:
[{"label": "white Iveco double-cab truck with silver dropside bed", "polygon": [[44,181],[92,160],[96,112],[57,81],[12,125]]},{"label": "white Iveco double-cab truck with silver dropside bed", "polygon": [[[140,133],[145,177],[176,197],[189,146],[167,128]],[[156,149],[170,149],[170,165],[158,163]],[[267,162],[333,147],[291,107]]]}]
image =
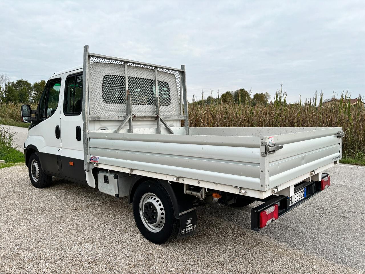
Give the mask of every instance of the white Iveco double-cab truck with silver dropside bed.
[{"label": "white Iveco double-cab truck with silver dropside bed", "polygon": [[[142,235],[161,244],[197,230],[196,206],[251,209],[259,231],[330,185],[342,128],[189,128],[185,66],[89,53],[54,73],[24,143],[29,177],[128,196]],[[182,121],[184,126],[181,126]]]}]

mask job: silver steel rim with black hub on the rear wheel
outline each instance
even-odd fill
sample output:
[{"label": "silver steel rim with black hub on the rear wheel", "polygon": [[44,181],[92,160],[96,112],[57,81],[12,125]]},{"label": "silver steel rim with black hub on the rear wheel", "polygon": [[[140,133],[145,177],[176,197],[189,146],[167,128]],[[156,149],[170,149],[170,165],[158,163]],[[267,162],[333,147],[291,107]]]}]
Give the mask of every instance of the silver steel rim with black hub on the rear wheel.
[{"label": "silver steel rim with black hub on the rear wheel", "polygon": [[[155,212],[154,212],[155,210]],[[165,224],[165,208],[160,198],[153,193],[146,193],[139,201],[139,216],[143,225],[151,232],[159,232]]]}]

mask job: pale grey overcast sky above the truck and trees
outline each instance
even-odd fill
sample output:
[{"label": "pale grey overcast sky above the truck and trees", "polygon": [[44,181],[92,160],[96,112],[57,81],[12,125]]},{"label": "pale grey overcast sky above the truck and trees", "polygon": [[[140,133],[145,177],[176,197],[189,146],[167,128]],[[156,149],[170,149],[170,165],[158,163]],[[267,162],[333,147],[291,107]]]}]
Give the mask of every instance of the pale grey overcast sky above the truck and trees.
[{"label": "pale grey overcast sky above the truck and trees", "polygon": [[[116,1],[115,1],[116,2]],[[365,1],[3,1],[0,74],[30,82],[89,51],[180,68],[210,89],[365,95]],[[216,94],[215,94],[216,95]]]}]

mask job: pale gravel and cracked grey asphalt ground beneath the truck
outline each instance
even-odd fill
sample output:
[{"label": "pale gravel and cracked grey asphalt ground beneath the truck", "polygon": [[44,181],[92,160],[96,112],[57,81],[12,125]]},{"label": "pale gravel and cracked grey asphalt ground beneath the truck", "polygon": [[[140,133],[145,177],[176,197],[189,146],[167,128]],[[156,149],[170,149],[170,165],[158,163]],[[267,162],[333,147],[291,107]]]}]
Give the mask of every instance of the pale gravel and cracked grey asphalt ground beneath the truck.
[{"label": "pale gravel and cracked grey asphalt ground beneath the truck", "polygon": [[26,167],[4,168],[0,273],[365,273],[365,169],[329,172],[330,188],[261,232],[250,206],[217,205],[197,210],[195,236],[158,246],[126,197],[60,179],[36,189]]}]

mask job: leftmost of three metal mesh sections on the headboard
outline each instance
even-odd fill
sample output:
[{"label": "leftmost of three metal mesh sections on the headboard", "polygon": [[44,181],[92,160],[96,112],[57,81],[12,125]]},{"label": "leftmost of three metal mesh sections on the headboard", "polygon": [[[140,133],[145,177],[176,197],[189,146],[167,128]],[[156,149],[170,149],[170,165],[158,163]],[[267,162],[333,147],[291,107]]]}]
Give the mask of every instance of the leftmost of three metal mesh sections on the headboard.
[{"label": "leftmost of three metal mesh sections on the headboard", "polygon": [[126,115],[124,62],[89,58],[89,104],[91,115]]}]

